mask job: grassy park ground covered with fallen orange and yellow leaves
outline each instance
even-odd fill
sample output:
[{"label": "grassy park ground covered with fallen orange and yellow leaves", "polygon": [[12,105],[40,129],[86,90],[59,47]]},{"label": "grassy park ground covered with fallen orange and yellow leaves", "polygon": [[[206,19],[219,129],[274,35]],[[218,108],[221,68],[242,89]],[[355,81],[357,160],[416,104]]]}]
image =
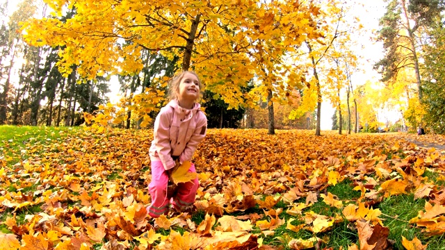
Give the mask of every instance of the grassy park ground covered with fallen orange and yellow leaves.
[{"label": "grassy park ground covered with fallen orange and yellow leaves", "polygon": [[193,208],[152,219],[152,131],[69,132],[1,138],[0,249],[445,245],[445,156],[407,141],[437,135],[209,130]]}]

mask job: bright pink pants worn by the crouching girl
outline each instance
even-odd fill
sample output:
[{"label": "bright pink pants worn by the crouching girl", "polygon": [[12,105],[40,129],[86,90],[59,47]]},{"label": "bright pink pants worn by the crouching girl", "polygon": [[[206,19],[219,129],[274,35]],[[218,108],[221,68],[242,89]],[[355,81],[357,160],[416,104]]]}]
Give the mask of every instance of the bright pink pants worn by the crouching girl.
[{"label": "bright pink pants worn by the crouching girl", "polygon": [[[196,172],[192,163],[188,172]],[[168,205],[172,198],[172,206],[181,209],[183,206],[190,206],[195,202],[196,190],[200,183],[195,178],[187,183],[179,183],[175,197],[167,197],[168,174],[160,160],[152,162],[152,182],[148,185],[148,190],[152,196],[152,204],[148,206],[147,212],[150,217],[157,218],[168,213]]]}]

